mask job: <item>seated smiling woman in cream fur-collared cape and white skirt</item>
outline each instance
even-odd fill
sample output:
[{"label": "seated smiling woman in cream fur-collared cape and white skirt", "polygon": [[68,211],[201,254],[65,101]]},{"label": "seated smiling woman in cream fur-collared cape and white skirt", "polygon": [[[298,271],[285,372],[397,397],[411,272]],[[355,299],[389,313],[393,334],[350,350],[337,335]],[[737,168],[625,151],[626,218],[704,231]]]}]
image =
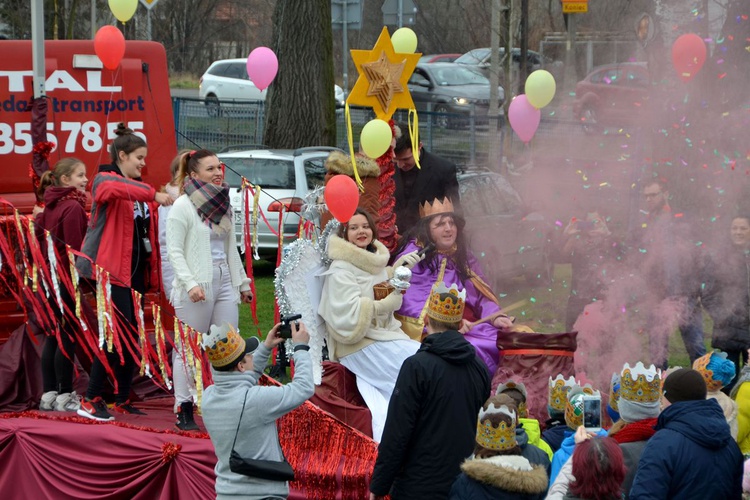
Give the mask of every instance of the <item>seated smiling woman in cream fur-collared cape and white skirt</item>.
[{"label": "seated smiling woman in cream fur-collared cape and white skirt", "polygon": [[[374,239],[372,216],[357,209],[338,236],[328,240],[326,273],[318,313],[326,323],[328,355],[357,376],[357,388],[372,413],[373,439],[380,442],[388,402],[401,364],[417,352],[419,342],[401,330],[393,311],[401,307],[401,292],[375,300],[373,286],[386,281],[388,249]],[[394,267],[419,262],[416,252]]]}]

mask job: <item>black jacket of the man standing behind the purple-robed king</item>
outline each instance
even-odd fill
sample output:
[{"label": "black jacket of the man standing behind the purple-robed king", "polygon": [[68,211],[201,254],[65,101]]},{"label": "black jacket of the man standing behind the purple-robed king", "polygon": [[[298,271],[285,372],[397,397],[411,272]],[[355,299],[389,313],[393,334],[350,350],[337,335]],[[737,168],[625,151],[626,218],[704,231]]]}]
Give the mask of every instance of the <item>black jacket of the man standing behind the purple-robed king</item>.
[{"label": "black jacket of the man standing behind the purple-robed king", "polygon": [[[432,202],[435,198],[448,197],[453,202],[454,209],[460,214],[460,199],[458,195],[458,180],[456,180],[456,165],[424,148],[419,158],[422,167],[417,172],[417,180],[409,198],[404,193],[402,172],[397,167],[393,180],[396,182],[396,226],[399,234],[404,234],[417,224],[419,220],[419,204]],[[416,166],[414,167],[417,168]]]}]

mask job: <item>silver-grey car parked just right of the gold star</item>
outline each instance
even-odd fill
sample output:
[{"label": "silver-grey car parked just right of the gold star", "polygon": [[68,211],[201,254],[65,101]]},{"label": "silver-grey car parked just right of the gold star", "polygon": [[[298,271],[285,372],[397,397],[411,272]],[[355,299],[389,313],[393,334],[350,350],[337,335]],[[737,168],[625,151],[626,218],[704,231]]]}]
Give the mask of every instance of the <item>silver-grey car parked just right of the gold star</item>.
[{"label": "silver-grey car parked just right of the gold star", "polygon": [[[408,85],[417,110],[431,109],[438,126],[466,125],[472,112],[478,123],[487,123],[490,82],[479,73],[454,63],[417,64]],[[502,87],[498,97],[502,105]]]}]

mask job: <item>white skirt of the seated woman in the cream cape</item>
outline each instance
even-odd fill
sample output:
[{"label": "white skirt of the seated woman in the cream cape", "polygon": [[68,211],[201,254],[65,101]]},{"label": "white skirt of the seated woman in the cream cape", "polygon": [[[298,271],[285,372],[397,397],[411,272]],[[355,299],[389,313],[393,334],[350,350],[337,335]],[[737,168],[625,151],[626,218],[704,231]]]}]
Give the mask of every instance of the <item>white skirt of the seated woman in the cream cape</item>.
[{"label": "white skirt of the seated woman in the cream cape", "polygon": [[339,362],[357,376],[357,389],[372,413],[372,438],[380,442],[388,403],[404,360],[419,349],[415,340],[375,342]]}]

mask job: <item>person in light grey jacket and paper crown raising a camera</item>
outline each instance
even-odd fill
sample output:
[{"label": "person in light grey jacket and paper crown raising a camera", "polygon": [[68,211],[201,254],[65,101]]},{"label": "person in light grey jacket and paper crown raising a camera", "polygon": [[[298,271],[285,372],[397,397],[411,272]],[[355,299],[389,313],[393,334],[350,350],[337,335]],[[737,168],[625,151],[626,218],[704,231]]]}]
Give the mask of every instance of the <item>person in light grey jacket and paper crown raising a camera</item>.
[{"label": "person in light grey jacket and paper crown raising a camera", "polygon": [[282,386],[260,386],[271,350],[284,341],[281,323],[257,337],[243,339],[225,324],[211,326],[204,344],[214,385],[203,395],[203,423],[216,452],[216,497],[279,499],[289,494],[291,467],[284,458],[276,419],[313,395],[310,335],[303,323],[291,323],[294,379]]}]

